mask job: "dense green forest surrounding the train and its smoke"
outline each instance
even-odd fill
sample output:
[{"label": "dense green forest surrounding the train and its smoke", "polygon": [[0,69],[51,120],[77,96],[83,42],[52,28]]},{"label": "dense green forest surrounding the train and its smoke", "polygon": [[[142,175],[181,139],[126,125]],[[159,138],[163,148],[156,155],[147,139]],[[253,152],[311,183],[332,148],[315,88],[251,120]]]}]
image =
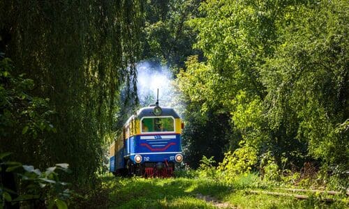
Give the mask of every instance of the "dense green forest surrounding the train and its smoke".
[{"label": "dense green forest surrounding the train and its smoke", "polygon": [[98,185],[147,60],[182,93],[191,168],[306,166],[348,188],[348,14],[343,0],[0,1],[0,158]]}]

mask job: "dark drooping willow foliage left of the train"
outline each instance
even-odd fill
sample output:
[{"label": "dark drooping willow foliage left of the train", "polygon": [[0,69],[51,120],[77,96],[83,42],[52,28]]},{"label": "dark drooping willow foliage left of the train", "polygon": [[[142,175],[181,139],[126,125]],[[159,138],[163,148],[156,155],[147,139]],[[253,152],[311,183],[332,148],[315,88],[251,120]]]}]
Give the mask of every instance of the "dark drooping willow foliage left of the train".
[{"label": "dark drooping willow foliage left of the train", "polygon": [[[141,6],[140,1],[1,1],[1,56],[13,61],[13,77],[29,78],[3,87],[25,93],[7,103],[13,111],[1,112],[1,120],[6,115],[17,121],[1,123],[8,134],[1,136],[1,150],[40,169],[68,162],[67,178],[93,185],[105,134],[114,129],[120,88],[137,100]],[[3,101],[1,107],[7,105]]]}]

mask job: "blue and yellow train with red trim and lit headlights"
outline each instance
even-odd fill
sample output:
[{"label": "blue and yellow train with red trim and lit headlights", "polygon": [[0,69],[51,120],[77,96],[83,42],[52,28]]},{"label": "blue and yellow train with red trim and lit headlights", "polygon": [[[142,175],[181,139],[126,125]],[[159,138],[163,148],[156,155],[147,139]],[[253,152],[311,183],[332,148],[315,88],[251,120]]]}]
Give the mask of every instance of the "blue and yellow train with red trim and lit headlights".
[{"label": "blue and yellow train with red trim and lit headlights", "polygon": [[176,111],[160,107],[158,102],[139,109],[110,146],[110,172],[120,176],[172,176],[174,164],[183,161],[183,127]]}]

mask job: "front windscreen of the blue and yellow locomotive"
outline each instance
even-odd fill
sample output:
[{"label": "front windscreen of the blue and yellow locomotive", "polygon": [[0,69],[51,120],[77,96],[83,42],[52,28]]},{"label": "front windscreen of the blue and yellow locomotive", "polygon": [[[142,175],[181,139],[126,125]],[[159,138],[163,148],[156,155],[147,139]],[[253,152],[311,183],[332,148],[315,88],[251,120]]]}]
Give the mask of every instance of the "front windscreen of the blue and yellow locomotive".
[{"label": "front windscreen of the blue and yellow locomotive", "polygon": [[143,118],[142,132],[174,132],[174,120],[165,118]]}]

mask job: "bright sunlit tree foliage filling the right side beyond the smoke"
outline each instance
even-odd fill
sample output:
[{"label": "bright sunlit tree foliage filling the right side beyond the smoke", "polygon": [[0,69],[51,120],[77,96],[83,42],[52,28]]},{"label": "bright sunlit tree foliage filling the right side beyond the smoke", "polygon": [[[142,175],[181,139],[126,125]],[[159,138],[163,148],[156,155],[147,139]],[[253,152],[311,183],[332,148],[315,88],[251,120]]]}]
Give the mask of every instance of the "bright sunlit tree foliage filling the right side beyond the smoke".
[{"label": "bright sunlit tree foliage filling the right side beyond the smoke", "polygon": [[189,116],[229,114],[225,134],[240,137],[228,137],[226,146],[237,148],[243,140],[258,154],[269,150],[275,158],[267,167],[271,173],[314,160],[348,167],[345,5],[202,2],[201,16],[188,24],[207,61],[189,58],[177,81],[191,105],[200,106]]}]

